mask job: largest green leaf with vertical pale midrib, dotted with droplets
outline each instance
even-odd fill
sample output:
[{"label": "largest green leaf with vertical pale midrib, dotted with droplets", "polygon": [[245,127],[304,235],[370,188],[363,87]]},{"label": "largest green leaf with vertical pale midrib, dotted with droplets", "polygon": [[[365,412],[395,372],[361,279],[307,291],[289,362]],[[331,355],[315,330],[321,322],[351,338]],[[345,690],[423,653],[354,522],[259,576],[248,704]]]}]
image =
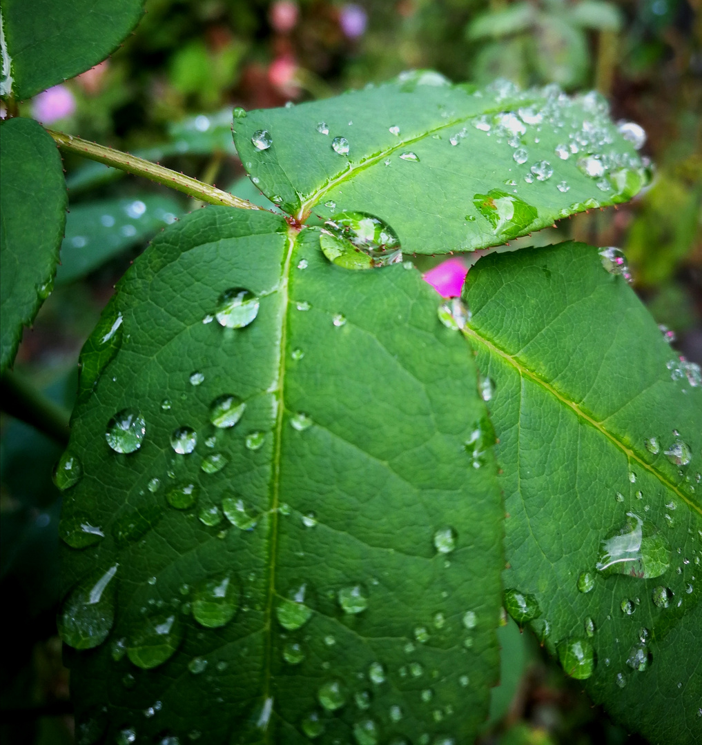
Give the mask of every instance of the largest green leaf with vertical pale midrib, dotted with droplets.
[{"label": "largest green leaf with vertical pale midrib, dotted with droplets", "polygon": [[503,512],[472,355],[411,264],[344,270],[319,238],[198,210],[83,351],[60,626],[107,741],[472,741],[487,716]]}]

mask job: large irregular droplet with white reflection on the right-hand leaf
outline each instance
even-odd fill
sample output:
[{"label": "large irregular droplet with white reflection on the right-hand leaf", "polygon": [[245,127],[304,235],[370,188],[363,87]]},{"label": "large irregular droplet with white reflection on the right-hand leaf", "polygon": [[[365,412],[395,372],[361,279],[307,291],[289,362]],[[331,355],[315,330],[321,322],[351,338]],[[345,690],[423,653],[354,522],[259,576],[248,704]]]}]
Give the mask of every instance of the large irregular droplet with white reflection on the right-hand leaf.
[{"label": "large irregular droplet with white reflection on the right-hand leaf", "polygon": [[638,515],[627,513],[624,525],[601,541],[595,567],[603,574],[650,579],[660,577],[670,560],[670,546],[656,528]]}]

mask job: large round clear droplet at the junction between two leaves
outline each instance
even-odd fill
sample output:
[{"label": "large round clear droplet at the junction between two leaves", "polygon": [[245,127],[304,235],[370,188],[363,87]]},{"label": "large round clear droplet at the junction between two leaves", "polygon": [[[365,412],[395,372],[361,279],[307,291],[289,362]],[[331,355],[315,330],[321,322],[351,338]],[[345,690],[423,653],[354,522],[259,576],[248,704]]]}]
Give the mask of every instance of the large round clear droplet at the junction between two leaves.
[{"label": "large round clear droplet at the junction between two leaves", "polygon": [[320,235],[320,246],[326,258],[339,266],[384,267],[402,261],[396,232],[374,215],[340,212],[333,220],[326,221],[325,226],[329,235]]}]

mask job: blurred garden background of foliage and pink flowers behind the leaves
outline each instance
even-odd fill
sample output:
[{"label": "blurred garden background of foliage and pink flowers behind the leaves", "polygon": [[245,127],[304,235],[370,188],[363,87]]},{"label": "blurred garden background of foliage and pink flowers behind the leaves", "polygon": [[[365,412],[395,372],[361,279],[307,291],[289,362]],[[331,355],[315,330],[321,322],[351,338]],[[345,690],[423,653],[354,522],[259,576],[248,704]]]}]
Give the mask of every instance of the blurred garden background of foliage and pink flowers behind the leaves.
[{"label": "blurred garden background of foliage and pink flowers behind the leaves", "polygon": [[[515,245],[568,238],[622,247],[634,288],[680,354],[702,362],[700,0],[147,0],[108,60],[20,104],[24,115],[165,162],[265,204],[244,177],[233,107],[281,106],[432,68],[452,80],[594,87],[639,122],[656,164],[648,189]],[[78,352],[113,285],[149,238],[201,205],[95,162],[66,158],[70,214],[54,291],[2,381],[0,691],[4,743],[72,743],[54,616],[60,496],[51,470],[75,396]],[[455,260],[454,260],[455,261]],[[468,265],[469,259],[461,258]],[[438,261],[417,259],[422,270]],[[12,416],[36,395],[39,429]],[[42,392],[39,396],[38,392]],[[22,415],[25,419],[27,412]],[[39,431],[41,430],[41,431]],[[482,742],[636,738],[591,708],[536,639],[504,627],[502,686]]]}]

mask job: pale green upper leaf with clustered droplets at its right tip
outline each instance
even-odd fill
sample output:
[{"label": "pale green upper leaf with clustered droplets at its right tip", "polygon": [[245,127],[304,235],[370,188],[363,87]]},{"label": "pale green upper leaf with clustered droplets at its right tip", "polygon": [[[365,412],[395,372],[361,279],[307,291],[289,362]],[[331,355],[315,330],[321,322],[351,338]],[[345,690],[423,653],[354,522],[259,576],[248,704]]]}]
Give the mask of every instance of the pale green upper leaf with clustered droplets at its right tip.
[{"label": "pale green upper leaf with clustered droplets at its right tip", "polygon": [[[474,90],[425,71],[249,112],[235,119],[235,143],[253,183],[298,220],[369,212],[393,227],[404,253],[449,253],[632,197],[645,178],[641,159],[607,108],[595,93],[518,92],[504,80]],[[494,229],[494,206],[474,203],[493,189],[536,218],[505,229],[513,212],[505,201]]]}]

